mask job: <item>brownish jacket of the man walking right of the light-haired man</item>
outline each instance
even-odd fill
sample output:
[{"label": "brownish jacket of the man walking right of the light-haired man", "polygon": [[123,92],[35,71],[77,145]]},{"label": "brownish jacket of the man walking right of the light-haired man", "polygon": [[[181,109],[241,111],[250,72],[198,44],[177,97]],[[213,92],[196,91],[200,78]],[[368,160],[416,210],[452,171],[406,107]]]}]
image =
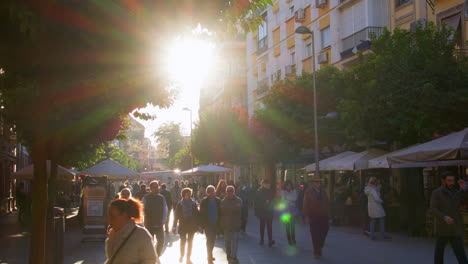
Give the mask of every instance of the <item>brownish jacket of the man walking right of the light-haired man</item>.
[{"label": "brownish jacket of the man walking right of the light-haired man", "polygon": [[221,201],[221,227],[227,232],[239,232],[242,224],[242,199],[226,196]]}]

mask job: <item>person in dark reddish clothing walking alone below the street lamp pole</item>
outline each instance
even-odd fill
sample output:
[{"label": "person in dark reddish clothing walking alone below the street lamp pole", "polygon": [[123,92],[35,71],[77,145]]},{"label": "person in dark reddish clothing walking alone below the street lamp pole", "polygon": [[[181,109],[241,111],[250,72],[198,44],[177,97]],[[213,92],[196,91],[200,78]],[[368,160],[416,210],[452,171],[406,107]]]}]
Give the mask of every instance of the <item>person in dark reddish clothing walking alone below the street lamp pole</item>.
[{"label": "person in dark reddish clothing walking alone below the street lamp pole", "polygon": [[323,246],[328,234],[328,195],[321,187],[321,179],[318,175],[312,176],[312,185],[304,193],[303,214],[306,223],[309,224],[310,236],[314,248],[314,257],[322,256]]}]

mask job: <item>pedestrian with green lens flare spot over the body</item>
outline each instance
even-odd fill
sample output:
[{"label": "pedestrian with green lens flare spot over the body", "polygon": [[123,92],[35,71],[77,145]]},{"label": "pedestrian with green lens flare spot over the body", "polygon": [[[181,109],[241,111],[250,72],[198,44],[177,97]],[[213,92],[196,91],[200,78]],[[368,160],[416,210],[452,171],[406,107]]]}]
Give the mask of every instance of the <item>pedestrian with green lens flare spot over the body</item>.
[{"label": "pedestrian with green lens flare spot over the body", "polygon": [[297,192],[291,181],[284,182],[281,197],[287,208],[287,217],[283,218],[283,223],[286,228],[288,244],[294,246],[296,245],[296,217],[300,216],[300,213],[296,206]]}]

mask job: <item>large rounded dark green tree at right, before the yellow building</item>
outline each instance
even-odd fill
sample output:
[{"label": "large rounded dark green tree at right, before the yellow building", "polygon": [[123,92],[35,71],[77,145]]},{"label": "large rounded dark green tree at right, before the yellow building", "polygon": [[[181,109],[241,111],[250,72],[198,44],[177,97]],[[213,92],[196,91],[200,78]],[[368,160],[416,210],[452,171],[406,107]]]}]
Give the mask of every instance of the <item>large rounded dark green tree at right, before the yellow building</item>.
[{"label": "large rounded dark green tree at right, before the yellow building", "polygon": [[385,31],[346,73],[339,109],[354,141],[410,145],[468,126],[468,67],[452,31]]}]

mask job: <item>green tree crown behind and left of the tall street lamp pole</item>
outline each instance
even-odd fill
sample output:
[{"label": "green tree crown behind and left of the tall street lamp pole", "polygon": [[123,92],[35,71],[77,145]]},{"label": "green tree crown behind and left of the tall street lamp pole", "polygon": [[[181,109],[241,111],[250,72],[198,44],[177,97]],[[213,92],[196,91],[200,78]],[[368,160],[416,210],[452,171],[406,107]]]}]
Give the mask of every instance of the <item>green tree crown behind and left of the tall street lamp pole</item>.
[{"label": "green tree crown behind and left of the tall street lamp pole", "polygon": [[[317,71],[317,113],[321,146],[342,143],[341,122],[322,118],[336,112],[342,99],[344,76],[335,67]],[[295,80],[277,82],[262,98],[263,107],[255,118],[268,128],[277,141],[286,144],[291,153],[314,146],[313,75],[303,73]]]}]

